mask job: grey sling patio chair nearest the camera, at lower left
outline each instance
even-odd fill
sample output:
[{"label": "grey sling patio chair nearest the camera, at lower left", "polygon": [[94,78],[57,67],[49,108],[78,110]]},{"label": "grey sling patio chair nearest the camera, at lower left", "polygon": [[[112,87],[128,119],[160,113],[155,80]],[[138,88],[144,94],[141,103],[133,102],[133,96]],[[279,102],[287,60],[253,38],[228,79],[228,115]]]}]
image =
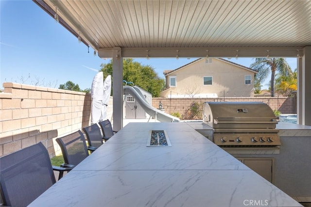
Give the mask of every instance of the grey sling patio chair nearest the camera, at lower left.
[{"label": "grey sling patio chair nearest the camera, at lower left", "polygon": [[72,168],[52,166],[48,150],[42,143],[23,148],[0,158],[0,189],[4,206],[25,207],[55,182],[53,169]]}]

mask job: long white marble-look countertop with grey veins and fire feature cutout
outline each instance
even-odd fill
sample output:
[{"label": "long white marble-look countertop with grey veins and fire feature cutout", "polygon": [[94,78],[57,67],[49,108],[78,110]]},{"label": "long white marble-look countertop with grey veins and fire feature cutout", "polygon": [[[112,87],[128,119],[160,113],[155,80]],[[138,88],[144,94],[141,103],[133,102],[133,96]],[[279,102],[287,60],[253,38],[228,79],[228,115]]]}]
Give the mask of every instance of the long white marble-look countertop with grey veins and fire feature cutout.
[{"label": "long white marble-look countertop with grey veins and fire feature cutout", "polygon": [[[151,130],[172,146],[147,146]],[[186,123],[130,123],[30,206],[301,205]]]}]

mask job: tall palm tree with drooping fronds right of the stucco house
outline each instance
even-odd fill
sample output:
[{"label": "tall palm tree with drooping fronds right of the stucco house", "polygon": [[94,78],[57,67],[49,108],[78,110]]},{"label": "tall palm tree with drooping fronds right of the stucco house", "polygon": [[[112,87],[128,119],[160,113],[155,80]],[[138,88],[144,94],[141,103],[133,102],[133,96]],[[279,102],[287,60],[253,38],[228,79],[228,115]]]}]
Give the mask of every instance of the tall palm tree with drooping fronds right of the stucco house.
[{"label": "tall palm tree with drooping fronds right of the stucco house", "polygon": [[284,58],[256,58],[255,62],[250,65],[250,68],[257,70],[255,79],[261,83],[271,72],[271,97],[275,96],[275,77],[276,72],[281,76],[292,77],[293,71],[291,66]]}]

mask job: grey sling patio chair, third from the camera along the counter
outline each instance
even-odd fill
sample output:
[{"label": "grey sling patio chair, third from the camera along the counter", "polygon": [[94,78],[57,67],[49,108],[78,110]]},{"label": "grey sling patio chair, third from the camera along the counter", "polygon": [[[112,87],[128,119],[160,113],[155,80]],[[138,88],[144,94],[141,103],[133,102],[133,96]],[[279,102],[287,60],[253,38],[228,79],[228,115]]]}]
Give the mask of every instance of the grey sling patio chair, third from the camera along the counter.
[{"label": "grey sling patio chair, third from the camera along the counter", "polygon": [[84,127],[83,131],[86,134],[86,139],[89,146],[97,149],[104,143],[101,129],[97,124],[92,124],[91,126]]}]

